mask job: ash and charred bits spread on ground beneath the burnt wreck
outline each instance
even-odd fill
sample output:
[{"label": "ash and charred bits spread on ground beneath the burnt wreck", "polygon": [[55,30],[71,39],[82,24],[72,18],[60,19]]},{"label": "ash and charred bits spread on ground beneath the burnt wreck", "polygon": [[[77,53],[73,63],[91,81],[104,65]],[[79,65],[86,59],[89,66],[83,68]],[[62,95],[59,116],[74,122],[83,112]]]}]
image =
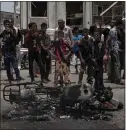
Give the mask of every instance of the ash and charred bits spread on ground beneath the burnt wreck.
[{"label": "ash and charred bits spread on ground beneath the burnt wreck", "polygon": [[113,115],[99,109],[88,109],[80,112],[76,108],[68,108],[67,111],[59,110],[59,99],[39,99],[34,102],[23,102],[16,105],[15,109],[2,115],[3,120],[24,121],[54,121],[63,119],[106,120],[110,121]]}]

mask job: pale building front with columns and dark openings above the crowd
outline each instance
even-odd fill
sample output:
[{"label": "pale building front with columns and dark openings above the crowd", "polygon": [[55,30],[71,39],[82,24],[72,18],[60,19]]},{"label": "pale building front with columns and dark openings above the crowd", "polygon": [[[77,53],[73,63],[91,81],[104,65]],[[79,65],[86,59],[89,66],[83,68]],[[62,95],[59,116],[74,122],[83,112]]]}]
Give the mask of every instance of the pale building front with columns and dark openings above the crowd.
[{"label": "pale building front with columns and dark openings above the crowd", "polygon": [[36,22],[38,27],[46,22],[49,28],[54,29],[58,19],[64,19],[70,27],[79,28],[89,28],[90,25],[101,22],[104,24],[113,17],[122,17],[125,4],[121,1],[100,16],[113,3],[114,1],[21,2],[21,28],[26,29],[29,22]]}]

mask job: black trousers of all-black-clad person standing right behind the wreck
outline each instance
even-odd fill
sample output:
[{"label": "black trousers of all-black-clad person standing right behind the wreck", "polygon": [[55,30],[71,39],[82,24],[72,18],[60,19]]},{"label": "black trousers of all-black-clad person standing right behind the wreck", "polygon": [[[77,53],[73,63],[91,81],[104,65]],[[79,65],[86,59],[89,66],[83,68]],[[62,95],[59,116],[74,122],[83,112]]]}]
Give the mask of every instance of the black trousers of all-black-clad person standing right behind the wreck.
[{"label": "black trousers of all-black-clad person standing right behind the wreck", "polygon": [[96,90],[103,90],[104,89],[104,83],[103,83],[103,59],[97,60],[97,66],[98,70],[95,71],[95,83],[94,88]]}]

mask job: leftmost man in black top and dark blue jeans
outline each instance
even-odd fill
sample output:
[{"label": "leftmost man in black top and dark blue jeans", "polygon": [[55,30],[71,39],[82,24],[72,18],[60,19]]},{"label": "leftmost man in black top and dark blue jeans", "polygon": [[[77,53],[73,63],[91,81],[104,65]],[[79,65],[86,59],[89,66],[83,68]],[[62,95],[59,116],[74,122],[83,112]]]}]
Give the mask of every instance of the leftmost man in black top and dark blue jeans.
[{"label": "leftmost man in black top and dark blue jeans", "polygon": [[12,76],[10,72],[10,64],[15,71],[16,80],[21,80],[16,57],[16,45],[18,44],[18,42],[15,30],[10,28],[9,20],[4,21],[4,26],[5,30],[0,34],[0,38],[3,38],[4,64],[7,71],[8,80],[11,83]]}]

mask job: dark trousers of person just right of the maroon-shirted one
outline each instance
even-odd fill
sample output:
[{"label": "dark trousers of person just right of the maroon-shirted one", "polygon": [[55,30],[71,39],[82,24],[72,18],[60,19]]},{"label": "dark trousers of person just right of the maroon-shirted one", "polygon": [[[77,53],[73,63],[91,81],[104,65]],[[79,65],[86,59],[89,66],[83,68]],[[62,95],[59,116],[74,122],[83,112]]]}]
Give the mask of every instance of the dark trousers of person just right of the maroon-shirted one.
[{"label": "dark trousers of person just right of the maroon-shirted one", "polygon": [[44,79],[48,79],[51,70],[51,56],[48,53],[42,53],[41,59],[44,65]]}]

